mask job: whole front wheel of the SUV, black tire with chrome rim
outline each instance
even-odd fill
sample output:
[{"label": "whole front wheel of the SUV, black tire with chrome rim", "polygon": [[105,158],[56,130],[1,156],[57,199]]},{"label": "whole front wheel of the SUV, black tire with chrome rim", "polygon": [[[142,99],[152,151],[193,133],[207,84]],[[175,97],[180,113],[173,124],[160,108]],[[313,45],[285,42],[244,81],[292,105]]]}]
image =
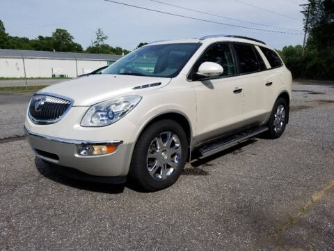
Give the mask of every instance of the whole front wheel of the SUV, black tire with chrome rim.
[{"label": "whole front wheel of the SUV, black tire with chrome rim", "polygon": [[129,180],[154,192],[173,185],[188,156],[188,140],[179,123],[164,119],[152,123],[138,138],[129,169]]}]

